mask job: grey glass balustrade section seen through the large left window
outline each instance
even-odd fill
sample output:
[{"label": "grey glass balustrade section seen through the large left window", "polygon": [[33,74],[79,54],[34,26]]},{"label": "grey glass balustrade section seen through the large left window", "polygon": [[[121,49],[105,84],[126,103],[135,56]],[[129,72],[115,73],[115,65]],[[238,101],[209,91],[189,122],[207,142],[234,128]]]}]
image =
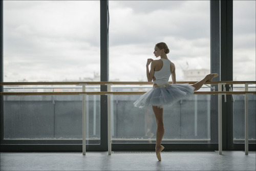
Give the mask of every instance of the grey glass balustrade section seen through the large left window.
[{"label": "grey glass balustrade section seen through the large left window", "polygon": [[[81,91],[81,87],[54,90],[67,89]],[[99,87],[88,86],[87,91],[99,91]],[[86,95],[86,118],[87,144],[100,144],[99,95]],[[4,139],[81,140],[82,95],[4,96]]]}]

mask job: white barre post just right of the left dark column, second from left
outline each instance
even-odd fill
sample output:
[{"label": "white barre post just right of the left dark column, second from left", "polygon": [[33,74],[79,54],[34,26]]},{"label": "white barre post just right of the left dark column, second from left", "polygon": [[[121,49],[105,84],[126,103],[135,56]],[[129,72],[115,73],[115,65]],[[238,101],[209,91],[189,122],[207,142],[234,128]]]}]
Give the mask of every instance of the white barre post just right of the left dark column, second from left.
[{"label": "white barre post just right of the left dark column, second from left", "polygon": [[[108,92],[111,92],[111,85],[112,83],[106,83],[105,85],[108,86]],[[111,155],[112,147],[111,147],[111,95],[113,94],[106,94],[108,95],[108,151],[109,155]]]}]

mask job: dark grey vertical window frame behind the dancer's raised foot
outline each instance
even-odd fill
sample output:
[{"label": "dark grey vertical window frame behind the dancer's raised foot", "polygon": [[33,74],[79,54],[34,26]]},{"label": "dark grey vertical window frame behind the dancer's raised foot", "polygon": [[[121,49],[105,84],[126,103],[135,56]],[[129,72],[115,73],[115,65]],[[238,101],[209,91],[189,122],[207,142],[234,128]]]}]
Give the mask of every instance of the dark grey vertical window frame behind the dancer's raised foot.
[{"label": "dark grey vertical window frame behind the dancer's raised foot", "polygon": [[[210,1],[210,72],[220,75],[220,1]],[[220,81],[220,76],[212,79]],[[218,85],[211,85],[218,91]],[[211,143],[218,142],[218,96],[210,96]]]}]

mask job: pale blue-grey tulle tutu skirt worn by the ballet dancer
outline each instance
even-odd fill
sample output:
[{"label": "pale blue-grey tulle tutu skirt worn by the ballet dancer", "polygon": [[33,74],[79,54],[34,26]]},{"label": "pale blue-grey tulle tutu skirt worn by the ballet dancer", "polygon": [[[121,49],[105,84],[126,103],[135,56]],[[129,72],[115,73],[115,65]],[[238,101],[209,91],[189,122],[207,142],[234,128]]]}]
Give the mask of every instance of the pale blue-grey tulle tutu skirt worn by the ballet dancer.
[{"label": "pale blue-grey tulle tutu skirt worn by the ballet dancer", "polygon": [[164,105],[172,105],[194,94],[194,89],[195,88],[189,84],[153,86],[153,89],[140,96],[140,98],[134,102],[134,105],[138,108],[144,108],[145,106],[158,106],[158,108],[163,108]]}]

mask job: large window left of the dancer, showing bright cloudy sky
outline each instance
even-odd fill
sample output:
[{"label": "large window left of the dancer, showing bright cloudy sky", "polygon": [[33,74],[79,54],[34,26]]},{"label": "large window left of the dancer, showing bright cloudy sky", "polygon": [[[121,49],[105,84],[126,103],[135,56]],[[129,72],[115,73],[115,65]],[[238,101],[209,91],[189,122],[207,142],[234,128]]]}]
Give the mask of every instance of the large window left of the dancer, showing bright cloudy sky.
[{"label": "large window left of the dancer, showing bright cloudy sky", "polygon": [[[3,6],[5,82],[100,80],[99,1],[4,1]],[[4,91],[25,89],[81,91],[76,86]],[[98,144],[100,100],[87,98],[87,138]],[[81,96],[5,96],[3,103],[5,140],[82,139]]]}]

